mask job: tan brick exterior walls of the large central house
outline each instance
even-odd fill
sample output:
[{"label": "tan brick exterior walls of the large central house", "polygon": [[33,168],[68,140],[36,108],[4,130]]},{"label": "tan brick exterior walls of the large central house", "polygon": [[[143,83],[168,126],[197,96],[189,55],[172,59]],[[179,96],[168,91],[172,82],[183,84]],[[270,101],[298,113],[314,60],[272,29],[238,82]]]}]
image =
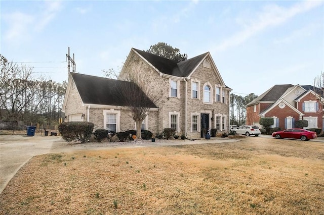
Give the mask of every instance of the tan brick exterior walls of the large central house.
[{"label": "tan brick exterior walls of the large central house", "polygon": [[[131,53],[132,55],[132,53]],[[223,87],[221,86],[221,80],[216,75],[216,71],[212,68],[206,68],[203,66],[203,64],[199,65],[196,71],[192,74],[190,77],[191,79],[196,79],[200,81],[199,86],[199,94],[200,99],[192,99],[191,97],[191,80],[187,80],[187,91],[186,91],[186,82],[185,80],[181,78],[174,77],[174,80],[179,80],[179,90],[180,97],[170,97],[169,91],[170,91],[170,78],[166,77],[165,75],[161,76],[157,71],[155,71],[150,65],[148,65],[142,58],[139,56],[133,54],[132,56],[133,61],[126,62],[127,67],[140,67],[141,69],[137,72],[144,73],[145,76],[149,76],[153,78],[154,86],[156,90],[159,92],[160,97],[159,100],[155,103],[158,107],[158,111],[151,111],[148,114],[148,130],[156,133],[161,133],[164,128],[170,128],[170,120],[169,120],[169,113],[170,112],[176,112],[180,114],[179,117],[179,131],[178,133],[184,134],[185,128],[187,126],[187,137],[188,138],[199,138],[200,137],[200,130],[197,132],[191,132],[191,113],[210,113],[209,120],[210,120],[210,128],[215,128],[215,120],[212,121],[211,118],[215,119],[216,115],[224,116],[226,117],[226,128],[225,130],[229,130],[229,91],[226,91],[226,99],[225,103],[222,102],[216,102],[215,101],[215,93],[216,93],[216,85],[220,86],[223,90]],[[211,59],[208,59],[210,62],[212,62]],[[136,62],[136,65],[135,63]],[[125,67],[125,66],[124,66]],[[123,75],[123,71],[120,75]],[[151,79],[150,79],[151,80]],[[212,104],[206,104],[203,103],[203,92],[204,92],[204,84],[209,82],[212,87]],[[225,89],[224,89],[225,90]],[[82,106],[82,101],[80,99],[77,99],[75,95],[72,96],[72,94],[77,94],[76,90],[74,89],[70,91],[68,94],[68,108],[66,109],[66,114],[73,113],[76,109],[73,109],[72,107],[78,106],[77,110],[80,110],[81,113],[85,113],[87,119],[87,109],[86,107]],[[185,95],[187,96],[187,116],[185,116]],[[222,94],[220,95],[222,99]],[[69,110],[71,112],[69,112]],[[93,122],[95,124],[95,130],[96,129],[102,129],[104,127],[104,110],[107,109],[101,109],[101,108],[92,108],[90,107],[89,110],[89,121]],[[187,117],[187,122],[185,121]],[[200,121],[198,121],[199,127],[200,127]],[[127,110],[120,110],[120,131],[126,131],[126,130],[134,130],[135,129],[135,122],[130,117],[130,113]]]}]

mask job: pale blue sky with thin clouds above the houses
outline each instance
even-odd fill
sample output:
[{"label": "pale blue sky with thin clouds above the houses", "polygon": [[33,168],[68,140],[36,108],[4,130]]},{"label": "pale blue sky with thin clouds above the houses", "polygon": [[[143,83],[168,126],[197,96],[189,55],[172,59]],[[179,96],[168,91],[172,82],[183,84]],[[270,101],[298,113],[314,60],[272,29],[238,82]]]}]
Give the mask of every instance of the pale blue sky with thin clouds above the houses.
[{"label": "pale blue sky with thin clouds above the houses", "polygon": [[[103,76],[132,47],[166,42],[188,58],[209,51],[245,96],[275,84],[311,85],[324,72],[324,1],[1,1],[0,53],[33,77]],[[18,63],[20,64],[20,63]]]}]

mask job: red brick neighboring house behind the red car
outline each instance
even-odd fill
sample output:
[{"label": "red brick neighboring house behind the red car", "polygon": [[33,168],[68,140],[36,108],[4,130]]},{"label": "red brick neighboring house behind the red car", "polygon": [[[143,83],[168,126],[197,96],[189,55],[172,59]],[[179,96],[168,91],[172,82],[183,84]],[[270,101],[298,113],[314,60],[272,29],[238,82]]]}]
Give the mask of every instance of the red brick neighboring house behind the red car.
[{"label": "red brick neighboring house behind the red car", "polygon": [[307,128],[323,126],[322,104],[311,85],[274,85],[246,105],[247,125],[259,124],[261,117],[272,117],[272,127],[294,128],[297,120],[307,120]]}]

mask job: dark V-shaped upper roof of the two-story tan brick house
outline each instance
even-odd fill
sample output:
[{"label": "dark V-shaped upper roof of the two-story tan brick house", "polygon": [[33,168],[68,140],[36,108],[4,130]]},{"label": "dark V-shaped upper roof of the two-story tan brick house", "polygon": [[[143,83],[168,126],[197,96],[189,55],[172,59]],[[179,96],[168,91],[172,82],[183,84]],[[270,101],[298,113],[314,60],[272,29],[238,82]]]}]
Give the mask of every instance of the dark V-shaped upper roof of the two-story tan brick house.
[{"label": "dark V-shaped upper roof of the two-story tan brick house", "polygon": [[136,48],[137,51],[143,58],[145,58],[150,64],[152,64],[158,71],[164,74],[173,75],[177,77],[187,77],[193,71],[193,69],[203,60],[208,52],[194,58],[177,63],[176,61],[169,60],[152,53],[148,53]]}]

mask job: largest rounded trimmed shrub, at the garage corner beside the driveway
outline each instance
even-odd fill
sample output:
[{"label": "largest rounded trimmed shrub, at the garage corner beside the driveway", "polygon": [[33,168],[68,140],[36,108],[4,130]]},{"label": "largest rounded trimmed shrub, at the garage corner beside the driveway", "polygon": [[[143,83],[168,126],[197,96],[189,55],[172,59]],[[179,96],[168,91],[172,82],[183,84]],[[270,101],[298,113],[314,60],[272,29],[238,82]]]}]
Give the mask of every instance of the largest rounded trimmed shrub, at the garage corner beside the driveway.
[{"label": "largest rounded trimmed shrub, at the garage corner beside the driveway", "polygon": [[62,138],[67,141],[79,140],[85,143],[91,137],[94,124],[90,122],[64,122],[58,126]]}]

